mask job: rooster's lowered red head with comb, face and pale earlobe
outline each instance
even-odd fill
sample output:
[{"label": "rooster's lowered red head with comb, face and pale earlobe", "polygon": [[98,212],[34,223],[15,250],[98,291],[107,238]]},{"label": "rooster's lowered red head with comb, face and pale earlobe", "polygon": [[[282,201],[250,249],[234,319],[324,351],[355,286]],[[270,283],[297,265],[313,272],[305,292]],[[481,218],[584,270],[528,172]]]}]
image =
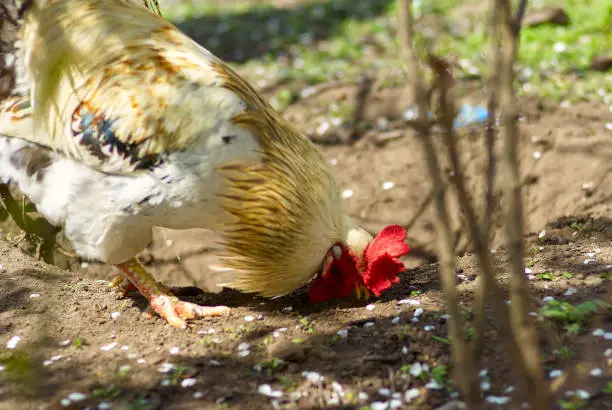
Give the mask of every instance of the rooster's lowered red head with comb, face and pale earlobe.
[{"label": "rooster's lowered red head with comb, face and pale earlobe", "polygon": [[353,291],[358,296],[379,296],[399,282],[397,275],[405,270],[399,260],[410,251],[405,239],[406,230],[399,225],[387,226],[374,239],[361,228],[353,228],[346,243],[334,244],[327,253],[308,291],[310,300],[323,302]]}]

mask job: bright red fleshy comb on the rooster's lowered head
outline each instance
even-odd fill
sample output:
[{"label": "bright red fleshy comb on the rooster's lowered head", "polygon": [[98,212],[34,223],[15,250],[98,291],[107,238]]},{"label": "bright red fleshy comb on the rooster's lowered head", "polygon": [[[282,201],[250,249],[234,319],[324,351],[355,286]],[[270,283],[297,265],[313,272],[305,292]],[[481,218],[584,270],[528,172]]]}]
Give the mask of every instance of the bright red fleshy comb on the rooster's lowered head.
[{"label": "bright red fleshy comb on the rooster's lowered head", "polygon": [[376,296],[399,282],[397,274],[406,267],[399,260],[400,256],[410,251],[410,246],[404,242],[406,230],[400,225],[385,227],[374,238],[365,250],[365,272],[363,281]]}]

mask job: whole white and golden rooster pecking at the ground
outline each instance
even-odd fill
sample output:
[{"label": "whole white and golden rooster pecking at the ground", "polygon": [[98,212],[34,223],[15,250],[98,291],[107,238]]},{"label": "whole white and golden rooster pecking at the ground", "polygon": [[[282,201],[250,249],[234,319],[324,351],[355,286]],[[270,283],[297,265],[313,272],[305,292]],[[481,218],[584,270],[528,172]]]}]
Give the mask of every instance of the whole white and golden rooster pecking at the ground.
[{"label": "whole white and golden rooster pecking at the ground", "polygon": [[179,328],[229,309],[181,301],[145,270],[136,255],[154,226],[217,232],[223,285],[264,297],[312,281],[319,302],[397,282],[404,229],[373,238],[357,226],[320,150],[154,9],[23,3],[0,180]]}]

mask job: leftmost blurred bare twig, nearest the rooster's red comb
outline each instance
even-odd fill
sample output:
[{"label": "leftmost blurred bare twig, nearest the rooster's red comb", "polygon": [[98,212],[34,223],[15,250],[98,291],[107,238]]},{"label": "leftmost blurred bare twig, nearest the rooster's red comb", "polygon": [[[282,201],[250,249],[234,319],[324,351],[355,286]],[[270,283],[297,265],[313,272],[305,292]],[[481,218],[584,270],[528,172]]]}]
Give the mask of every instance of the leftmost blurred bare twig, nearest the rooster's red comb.
[{"label": "leftmost blurred bare twig, nearest the rooster's red comb", "polygon": [[465,343],[463,335],[463,317],[459,308],[452,229],[446,206],[444,181],[442,179],[440,163],[430,138],[430,124],[427,115],[427,92],[423,84],[423,77],[413,44],[414,29],[411,1],[398,1],[399,40],[408,78],[412,81],[417,98],[418,118],[415,122],[415,128],[420,136],[419,141],[421,141],[429,175],[433,183],[436,210],[434,221],[438,233],[441,279],[446,294],[448,311],[451,316],[451,320],[449,321],[449,333],[453,340],[451,343],[451,354],[455,365],[454,372],[456,377],[454,379],[458,383],[469,408],[479,409],[482,408],[482,400],[480,397],[478,376],[473,365],[472,354],[469,352],[469,346]]}]

